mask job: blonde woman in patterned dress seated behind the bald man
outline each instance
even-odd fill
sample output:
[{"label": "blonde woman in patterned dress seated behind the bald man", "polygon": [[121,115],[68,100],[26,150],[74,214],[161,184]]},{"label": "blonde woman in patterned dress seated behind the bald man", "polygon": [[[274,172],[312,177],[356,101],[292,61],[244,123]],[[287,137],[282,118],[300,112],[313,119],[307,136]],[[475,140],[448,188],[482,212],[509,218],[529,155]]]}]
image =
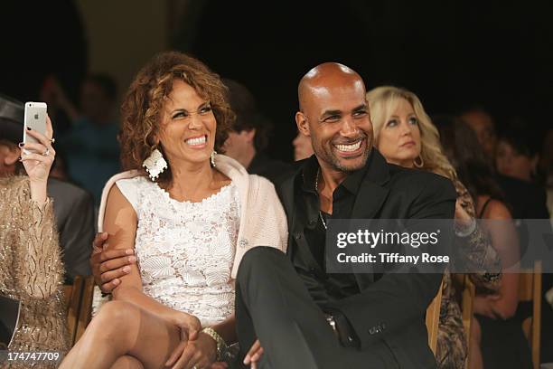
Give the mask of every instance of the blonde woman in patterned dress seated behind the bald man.
[{"label": "blonde woman in patterned dress seated behind the bald man", "polygon": [[[458,258],[453,262],[463,265],[464,270],[480,271],[471,274],[477,287],[498,289],[501,270],[498,253],[474,221],[473,199],[442,151],[438,131],[420,100],[413,92],[391,86],[370,90],[367,100],[375,147],[389,163],[426,170],[452,180],[457,191],[455,221],[462,224],[455,232],[455,256]],[[438,367],[464,368],[466,354],[461,308],[455,300],[452,276],[446,271],[438,325]]]}]

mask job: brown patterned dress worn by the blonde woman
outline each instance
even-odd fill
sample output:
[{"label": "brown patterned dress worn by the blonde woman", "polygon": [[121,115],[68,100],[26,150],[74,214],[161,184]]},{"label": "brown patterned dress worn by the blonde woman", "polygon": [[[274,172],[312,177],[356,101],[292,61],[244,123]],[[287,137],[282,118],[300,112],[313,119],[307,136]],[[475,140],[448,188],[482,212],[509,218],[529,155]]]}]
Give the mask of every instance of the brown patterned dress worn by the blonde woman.
[{"label": "brown patterned dress worn by the blonde woman", "polygon": [[[464,210],[470,216],[475,217],[471,195],[458,180],[454,180],[454,185],[457,199],[465,204]],[[493,249],[490,239],[479,225],[466,237],[455,236],[454,247],[460,251],[456,255],[463,257],[463,260],[456,260],[457,262],[463,263],[470,270],[483,270],[469,275],[475,287],[488,290],[499,289],[501,260],[497,251]],[[455,263],[455,260],[452,261]],[[441,369],[462,369],[466,355],[467,345],[461,307],[456,299],[452,274],[446,270],[442,288],[436,361]]]}]

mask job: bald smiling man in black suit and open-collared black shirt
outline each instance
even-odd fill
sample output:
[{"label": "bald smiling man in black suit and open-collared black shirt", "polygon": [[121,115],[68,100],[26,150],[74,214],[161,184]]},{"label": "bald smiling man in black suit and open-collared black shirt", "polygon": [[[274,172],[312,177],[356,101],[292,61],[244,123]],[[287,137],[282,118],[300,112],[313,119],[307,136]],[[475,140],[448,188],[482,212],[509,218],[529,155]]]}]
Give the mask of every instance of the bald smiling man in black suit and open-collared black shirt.
[{"label": "bald smiling man in black suit and open-collared black shirt", "polygon": [[237,277],[236,317],[246,364],[263,368],[432,368],[425,313],[440,274],[329,274],[329,219],[451,219],[444,177],[386,163],[373,148],[359,74],[338,63],[307,72],[297,128],[314,156],[277,190],[288,217],[287,255],[248,251]]}]

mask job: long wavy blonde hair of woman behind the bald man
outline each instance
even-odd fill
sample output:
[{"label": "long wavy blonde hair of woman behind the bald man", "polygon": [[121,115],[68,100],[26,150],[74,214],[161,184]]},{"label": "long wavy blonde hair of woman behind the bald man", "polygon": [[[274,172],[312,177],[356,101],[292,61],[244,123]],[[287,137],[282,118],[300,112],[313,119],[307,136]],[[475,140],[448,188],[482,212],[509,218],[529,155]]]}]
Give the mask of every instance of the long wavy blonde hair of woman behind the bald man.
[{"label": "long wavy blonde hair of woman behind the bald man", "polygon": [[379,142],[380,130],[388,121],[389,116],[398,107],[400,99],[406,99],[413,107],[420,129],[420,157],[423,160],[422,169],[449,179],[457,177],[455,168],[449,163],[440,144],[438,130],[426,114],[422,103],[413,92],[393,86],[381,86],[367,92],[370,120],[374,130],[375,142]]}]

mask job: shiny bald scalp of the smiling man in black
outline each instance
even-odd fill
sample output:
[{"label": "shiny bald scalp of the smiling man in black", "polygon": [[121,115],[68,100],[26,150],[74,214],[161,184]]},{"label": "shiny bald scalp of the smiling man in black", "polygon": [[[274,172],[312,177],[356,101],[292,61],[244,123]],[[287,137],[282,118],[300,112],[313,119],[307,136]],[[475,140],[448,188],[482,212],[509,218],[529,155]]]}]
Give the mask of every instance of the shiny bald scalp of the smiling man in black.
[{"label": "shiny bald scalp of the smiling man in black", "polygon": [[327,94],[329,90],[340,87],[350,87],[358,85],[365,90],[365,84],[361,76],[338,62],[324,62],[314,67],[311,71],[305,73],[297,87],[300,111],[305,111],[306,106],[312,99],[316,99],[322,94]]}]

